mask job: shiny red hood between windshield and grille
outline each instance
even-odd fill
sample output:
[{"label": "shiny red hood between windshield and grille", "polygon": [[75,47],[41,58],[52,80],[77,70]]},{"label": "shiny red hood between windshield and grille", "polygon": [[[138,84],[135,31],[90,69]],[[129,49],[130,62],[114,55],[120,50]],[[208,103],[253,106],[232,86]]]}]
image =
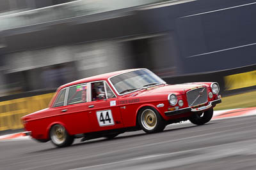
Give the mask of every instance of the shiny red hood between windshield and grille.
[{"label": "shiny red hood between windshield and grille", "polygon": [[201,84],[201,83],[159,85],[159,86],[149,87],[148,89],[145,89],[145,90],[134,92],[129,96],[148,96],[153,94],[169,94],[169,93],[181,95],[181,94],[186,94],[186,92],[188,92],[191,89],[196,89],[200,87],[207,87],[207,85]]}]

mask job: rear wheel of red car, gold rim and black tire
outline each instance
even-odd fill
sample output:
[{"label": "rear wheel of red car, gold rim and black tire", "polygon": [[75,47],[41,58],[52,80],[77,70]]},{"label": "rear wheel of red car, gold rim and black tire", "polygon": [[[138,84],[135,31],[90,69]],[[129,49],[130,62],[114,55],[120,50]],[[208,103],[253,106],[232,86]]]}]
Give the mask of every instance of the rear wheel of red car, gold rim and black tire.
[{"label": "rear wheel of red car, gold rim and black tire", "polygon": [[70,136],[65,127],[60,124],[51,127],[50,138],[52,143],[59,148],[70,146],[74,142],[74,137]]}]

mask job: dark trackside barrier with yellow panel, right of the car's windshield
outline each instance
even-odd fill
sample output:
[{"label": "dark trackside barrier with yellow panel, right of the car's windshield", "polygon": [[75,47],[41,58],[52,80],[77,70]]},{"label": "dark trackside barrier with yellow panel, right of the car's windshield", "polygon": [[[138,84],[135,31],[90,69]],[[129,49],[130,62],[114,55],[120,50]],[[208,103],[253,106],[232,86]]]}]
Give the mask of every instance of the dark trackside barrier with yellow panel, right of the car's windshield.
[{"label": "dark trackside barrier with yellow panel, right of the car's windshield", "polygon": [[163,80],[169,84],[216,81],[220,85],[220,94],[229,96],[248,90],[256,90],[255,70],[256,64],[223,71],[164,77]]}]

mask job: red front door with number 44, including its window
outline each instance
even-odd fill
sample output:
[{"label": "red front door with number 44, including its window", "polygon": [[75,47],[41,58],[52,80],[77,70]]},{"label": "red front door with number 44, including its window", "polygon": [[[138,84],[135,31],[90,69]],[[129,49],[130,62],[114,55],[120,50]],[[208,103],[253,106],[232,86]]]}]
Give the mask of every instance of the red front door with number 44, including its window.
[{"label": "red front door with number 44, including its window", "polygon": [[92,131],[106,131],[124,127],[118,99],[106,81],[90,83],[89,117]]}]

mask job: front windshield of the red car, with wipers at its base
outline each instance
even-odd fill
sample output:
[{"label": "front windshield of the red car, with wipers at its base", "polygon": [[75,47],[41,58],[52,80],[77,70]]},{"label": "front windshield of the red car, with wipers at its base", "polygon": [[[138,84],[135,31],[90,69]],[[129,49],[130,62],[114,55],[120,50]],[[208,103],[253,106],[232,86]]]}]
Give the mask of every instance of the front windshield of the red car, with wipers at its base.
[{"label": "front windshield of the red car, with wipers at its base", "polygon": [[148,69],[140,69],[120,74],[110,78],[110,81],[118,94],[124,94],[134,90],[145,89],[153,85],[165,83],[165,81],[159,78],[159,76]]}]

